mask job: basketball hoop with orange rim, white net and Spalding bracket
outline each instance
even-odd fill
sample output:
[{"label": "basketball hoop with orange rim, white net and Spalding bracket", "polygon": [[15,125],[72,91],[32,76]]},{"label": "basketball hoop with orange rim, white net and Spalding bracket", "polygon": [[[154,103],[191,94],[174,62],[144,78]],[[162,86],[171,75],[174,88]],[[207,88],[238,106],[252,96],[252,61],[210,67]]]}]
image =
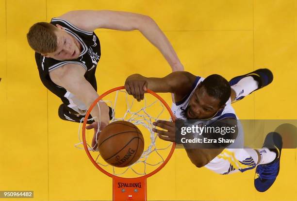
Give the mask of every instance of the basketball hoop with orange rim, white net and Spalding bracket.
[{"label": "basketball hoop with orange rim, white net and Spalding bracket", "polygon": [[[167,162],[170,160],[173,151],[175,149],[175,143],[170,143],[168,146],[165,146],[165,148],[157,148],[156,147],[156,140],[157,140],[157,135],[152,132],[152,128],[154,127],[152,125],[151,121],[156,121],[158,119],[161,118],[161,114],[163,114],[163,111],[168,111],[168,116],[171,117],[171,119],[174,121],[174,116],[170,110],[170,107],[167,105],[167,103],[159,96],[157,95],[155,92],[151,91],[148,89],[148,94],[152,95],[153,99],[157,98],[157,101],[153,101],[153,103],[148,104],[148,101],[145,97],[145,100],[142,101],[144,106],[142,106],[140,109],[136,109],[135,111],[132,110],[132,106],[133,106],[133,102],[135,101],[134,99],[131,101],[132,103],[129,104],[128,98],[132,97],[130,95],[128,95],[128,93],[123,90],[125,89],[124,86],[119,86],[119,87],[115,87],[111,90],[106,91],[105,93],[103,93],[101,96],[99,96],[99,98],[97,98],[92,105],[90,106],[90,108],[88,109],[85,118],[83,120],[83,124],[82,124],[82,144],[83,144],[83,148],[86,151],[89,159],[91,160],[91,162],[93,163],[93,165],[98,168],[101,172],[103,172],[104,174],[106,174],[107,176],[111,177],[113,179],[113,201],[147,201],[147,178],[156,174],[158,171],[160,171],[162,168],[165,167],[165,165],[167,164]],[[87,119],[90,115],[90,112],[92,111],[92,109],[95,107],[95,105],[98,104],[99,101],[102,101],[102,99],[108,95],[110,95],[111,93],[116,92],[115,94],[115,101],[113,103],[113,101],[104,101],[106,103],[109,103],[113,109],[113,119],[111,121],[116,121],[116,120],[128,120],[132,123],[134,123],[135,125],[141,125],[143,126],[145,129],[148,130],[148,133],[150,133],[149,136],[149,140],[151,141],[151,143],[149,144],[147,150],[144,151],[143,156],[138,160],[138,162],[136,162],[135,166],[137,166],[137,164],[144,164],[144,171],[143,172],[139,172],[136,170],[136,168],[133,168],[133,165],[130,166],[129,168],[126,168],[124,171],[122,171],[122,173],[117,173],[115,171],[115,168],[112,167],[111,172],[107,171],[107,169],[105,169],[105,167],[109,166],[109,165],[105,165],[103,164],[103,162],[99,162],[99,152],[97,152],[96,154],[99,154],[97,157],[93,156],[91,154],[90,151],[95,152],[95,150],[90,147],[89,143],[87,143],[87,138],[86,138],[86,131],[85,131],[85,127],[86,127],[86,123],[87,123]],[[115,107],[116,107],[116,103],[117,103],[117,99],[119,98],[119,93],[122,93],[125,95],[124,99],[126,99],[126,112],[124,113],[123,117],[121,118],[116,118],[115,117]],[[145,96],[147,96],[148,94],[146,94]],[[133,98],[133,97],[132,97]],[[121,101],[123,102],[123,101]],[[140,104],[140,103],[139,103]],[[159,114],[157,114],[157,117],[152,117],[151,115],[149,115],[148,113],[148,109],[153,107],[153,105],[156,104],[158,107],[161,106],[160,109],[162,110],[162,112]],[[99,106],[99,104],[98,104]],[[164,108],[165,107],[165,108]],[[159,109],[157,110],[152,110],[152,113],[157,112]],[[96,117],[95,117],[96,118]],[[98,122],[99,122],[98,118]],[[169,120],[169,119],[167,119]],[[100,123],[100,122],[99,122]],[[147,140],[148,141],[148,140]],[[159,140],[159,142],[163,143],[165,141],[163,140]],[[167,142],[166,142],[167,143]],[[170,151],[169,148],[171,147]],[[167,157],[163,157],[162,156],[162,151],[163,150],[167,150]],[[160,160],[160,162],[157,163],[148,163],[148,156],[155,152],[156,156],[160,156],[162,159]],[[165,160],[164,160],[165,158]],[[102,167],[103,168],[102,168]],[[151,172],[147,173],[146,168],[147,167],[155,167],[158,166],[157,168],[155,168],[154,170],[152,170]],[[125,174],[126,172],[128,172],[128,170],[132,170],[131,172],[135,173],[138,177],[120,177],[120,175]],[[139,176],[140,175],[140,176]]]}]

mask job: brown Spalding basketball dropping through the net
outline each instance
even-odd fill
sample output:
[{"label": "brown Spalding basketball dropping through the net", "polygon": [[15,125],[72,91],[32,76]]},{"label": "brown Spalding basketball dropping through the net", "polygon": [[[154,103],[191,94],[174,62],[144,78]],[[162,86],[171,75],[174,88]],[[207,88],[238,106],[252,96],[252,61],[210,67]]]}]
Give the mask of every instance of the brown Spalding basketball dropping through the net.
[{"label": "brown Spalding basketball dropping through the net", "polygon": [[98,148],[101,157],[110,165],[123,168],[135,163],[144,149],[140,130],[128,121],[108,124],[99,134]]}]

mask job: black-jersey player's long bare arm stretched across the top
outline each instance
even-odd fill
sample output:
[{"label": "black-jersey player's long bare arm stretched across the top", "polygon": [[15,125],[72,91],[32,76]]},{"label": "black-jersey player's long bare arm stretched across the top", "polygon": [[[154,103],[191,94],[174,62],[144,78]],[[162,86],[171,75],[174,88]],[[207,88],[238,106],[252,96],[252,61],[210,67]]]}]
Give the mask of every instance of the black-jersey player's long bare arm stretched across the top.
[{"label": "black-jersey player's long bare arm stretched across the top", "polygon": [[139,30],[149,42],[161,51],[172,71],[181,71],[183,66],[169,40],[156,22],[145,15],[120,11],[71,11],[59,18],[66,19],[85,31],[98,28],[119,31]]}]

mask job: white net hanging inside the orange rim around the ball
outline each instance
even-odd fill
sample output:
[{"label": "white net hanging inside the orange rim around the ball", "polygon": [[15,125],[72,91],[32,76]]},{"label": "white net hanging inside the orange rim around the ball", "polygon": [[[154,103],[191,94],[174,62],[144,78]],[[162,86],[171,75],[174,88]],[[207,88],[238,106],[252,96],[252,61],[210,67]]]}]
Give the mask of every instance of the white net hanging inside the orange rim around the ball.
[{"label": "white net hanging inside the orange rim around the ball", "polygon": [[[89,135],[86,136],[86,143],[88,150],[96,163],[111,174],[121,177],[138,177],[139,175],[146,175],[164,163],[165,158],[170,152],[172,143],[160,139],[158,135],[152,131],[152,129],[155,128],[152,124],[154,121],[159,119],[171,121],[169,112],[163,103],[150,94],[145,94],[144,100],[138,102],[132,96],[128,95],[125,90],[112,92],[104,97],[104,99],[108,100],[104,102],[113,109],[112,120],[110,122],[125,120],[136,125],[144,136],[145,147],[137,162],[126,168],[115,168],[107,164],[100,157],[99,151],[94,149],[96,146],[91,147],[91,139],[94,134],[92,133],[92,130],[86,132],[86,135]],[[75,147],[79,149],[83,149],[80,136],[82,122],[83,119],[81,120],[78,133],[80,142],[75,145]],[[98,117],[98,128],[100,128],[100,115]],[[99,132],[100,131],[98,131],[96,135],[98,135]],[[96,139],[98,138],[96,137]]]}]

